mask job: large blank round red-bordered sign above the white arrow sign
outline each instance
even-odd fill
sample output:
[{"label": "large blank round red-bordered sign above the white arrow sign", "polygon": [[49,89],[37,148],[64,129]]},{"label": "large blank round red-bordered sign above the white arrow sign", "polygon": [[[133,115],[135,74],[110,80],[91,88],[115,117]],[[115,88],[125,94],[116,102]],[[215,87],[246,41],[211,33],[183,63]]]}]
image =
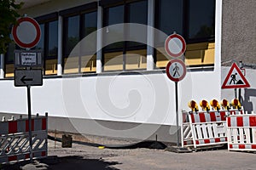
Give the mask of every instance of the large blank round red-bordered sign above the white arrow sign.
[{"label": "large blank round red-bordered sign above the white arrow sign", "polygon": [[33,48],[40,41],[41,29],[36,20],[23,17],[17,20],[17,25],[13,26],[12,35],[20,48]]}]

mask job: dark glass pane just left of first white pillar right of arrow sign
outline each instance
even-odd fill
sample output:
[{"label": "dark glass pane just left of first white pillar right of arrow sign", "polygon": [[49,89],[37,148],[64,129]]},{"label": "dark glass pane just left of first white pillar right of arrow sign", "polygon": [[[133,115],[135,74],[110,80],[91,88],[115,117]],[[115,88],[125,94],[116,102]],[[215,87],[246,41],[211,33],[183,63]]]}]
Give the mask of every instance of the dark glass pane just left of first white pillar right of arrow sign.
[{"label": "dark glass pane just left of first white pillar right of arrow sign", "polygon": [[47,57],[56,57],[58,53],[58,21],[49,22],[49,44]]}]

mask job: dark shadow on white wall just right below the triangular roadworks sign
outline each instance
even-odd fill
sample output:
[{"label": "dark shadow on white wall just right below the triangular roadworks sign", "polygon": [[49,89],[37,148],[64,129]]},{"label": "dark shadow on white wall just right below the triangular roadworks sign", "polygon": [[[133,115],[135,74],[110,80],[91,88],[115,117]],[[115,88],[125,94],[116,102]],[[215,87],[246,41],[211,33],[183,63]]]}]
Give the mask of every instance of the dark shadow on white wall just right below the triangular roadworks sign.
[{"label": "dark shadow on white wall just right below the triangular roadworks sign", "polygon": [[245,88],[244,98],[241,98],[241,105],[244,106],[245,110],[248,111],[248,113],[251,113],[253,111],[253,102],[250,100],[250,97],[256,97],[256,89]]}]

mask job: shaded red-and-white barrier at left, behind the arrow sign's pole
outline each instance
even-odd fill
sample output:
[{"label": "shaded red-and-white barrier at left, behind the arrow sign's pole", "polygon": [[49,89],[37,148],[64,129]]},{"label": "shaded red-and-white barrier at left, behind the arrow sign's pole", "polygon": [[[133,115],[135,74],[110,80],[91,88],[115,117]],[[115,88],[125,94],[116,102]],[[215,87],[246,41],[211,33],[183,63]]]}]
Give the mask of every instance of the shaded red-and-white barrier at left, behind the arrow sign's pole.
[{"label": "shaded red-and-white barrier at left, behind the arrow sign's pole", "polygon": [[[32,157],[47,156],[47,122],[45,116],[32,117]],[[30,158],[28,119],[22,118],[0,122],[0,164]]]}]

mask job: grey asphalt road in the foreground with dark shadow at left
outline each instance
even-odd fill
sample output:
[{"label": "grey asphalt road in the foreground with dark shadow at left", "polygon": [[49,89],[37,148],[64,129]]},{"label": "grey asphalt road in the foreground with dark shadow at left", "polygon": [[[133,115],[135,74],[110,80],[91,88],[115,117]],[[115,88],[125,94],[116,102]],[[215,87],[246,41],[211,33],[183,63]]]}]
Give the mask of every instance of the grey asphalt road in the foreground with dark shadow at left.
[{"label": "grey asphalt road in the foreground with dark shadow at left", "polygon": [[60,170],[155,170],[155,169],[256,169],[256,154],[229,152],[228,150],[206,150],[192,153],[173,153],[166,150],[112,150],[73,144],[73,148],[61,148],[49,140],[49,157],[34,161],[21,162],[2,169],[60,169]]}]

